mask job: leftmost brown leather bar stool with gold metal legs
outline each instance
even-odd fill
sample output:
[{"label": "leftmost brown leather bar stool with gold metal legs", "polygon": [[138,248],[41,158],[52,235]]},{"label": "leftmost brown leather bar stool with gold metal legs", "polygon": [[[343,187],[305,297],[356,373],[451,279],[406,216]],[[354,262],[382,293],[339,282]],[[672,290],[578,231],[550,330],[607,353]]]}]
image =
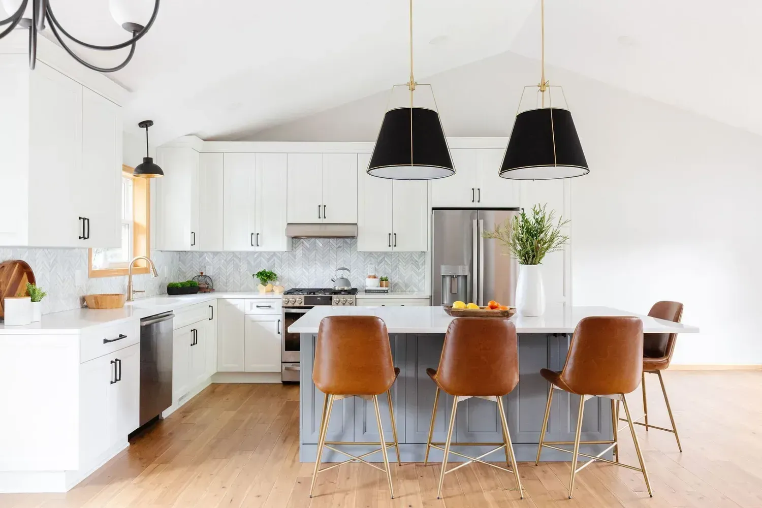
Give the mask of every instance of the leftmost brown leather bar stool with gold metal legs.
[{"label": "leftmost brown leather bar stool with gold metal legs", "polygon": [[[389,457],[386,455],[386,450],[392,446],[397,449],[397,463],[399,464],[397,427],[394,421],[392,392],[390,391],[398,375],[399,369],[395,368],[392,363],[389,334],[386,331],[386,324],[381,318],[376,316],[328,316],[320,321],[318,340],[315,344],[315,365],[312,370],[312,381],[315,382],[315,386],[320,391],[325,393],[326,397],[323,401],[318,456],[315,458],[315,470],[312,472],[309,497],[312,497],[312,490],[315,489],[315,480],[318,478],[319,472],[328,471],[328,469],[336,468],[347,462],[359,461],[386,473],[386,479],[389,481],[389,493],[394,499],[392,470],[389,467]],[[383,395],[385,392],[389,402],[389,417],[392,420],[393,443],[386,443],[381,425],[379,395]],[[347,443],[325,440],[334,402],[354,396],[373,400],[373,406],[376,409],[376,423],[379,427],[379,443],[377,444],[380,448],[360,456],[350,455],[333,445],[375,445],[376,443]],[[328,466],[328,468],[320,469],[320,458],[324,448],[350,458],[344,462]],[[383,456],[383,469],[364,459],[376,452],[381,452]]]}]

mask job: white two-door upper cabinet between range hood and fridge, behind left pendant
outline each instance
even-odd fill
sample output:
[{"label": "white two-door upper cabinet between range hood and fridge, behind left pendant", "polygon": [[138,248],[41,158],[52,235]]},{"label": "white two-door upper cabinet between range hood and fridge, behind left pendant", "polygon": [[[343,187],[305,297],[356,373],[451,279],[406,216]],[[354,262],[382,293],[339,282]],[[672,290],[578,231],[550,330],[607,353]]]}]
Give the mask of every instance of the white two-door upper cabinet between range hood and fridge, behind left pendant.
[{"label": "white two-door upper cabinet between range hood and fridge, behind left pendant", "polygon": [[372,177],[365,171],[369,158],[358,155],[357,250],[427,251],[427,182]]}]

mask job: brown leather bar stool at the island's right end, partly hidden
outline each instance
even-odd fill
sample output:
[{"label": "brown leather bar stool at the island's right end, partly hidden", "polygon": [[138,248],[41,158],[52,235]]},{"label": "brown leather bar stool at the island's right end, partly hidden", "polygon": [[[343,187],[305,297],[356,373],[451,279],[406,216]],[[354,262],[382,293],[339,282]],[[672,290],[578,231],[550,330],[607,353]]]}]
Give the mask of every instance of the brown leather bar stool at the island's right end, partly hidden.
[{"label": "brown leather bar stool at the island's right end, partly hidden", "polygon": [[[664,319],[666,321],[673,321],[679,323],[683,317],[683,304],[680,302],[669,302],[662,300],[656,302],[648,315],[652,318]],[[672,353],[674,353],[674,345],[677,343],[677,334],[643,334],[643,377],[641,386],[643,389],[643,416],[644,423],[639,421],[634,422],[636,425],[642,425],[645,427],[645,431],[648,429],[664,430],[665,432],[671,432],[674,434],[674,439],[677,441],[677,449],[683,452],[683,447],[680,446],[680,436],[677,435],[677,427],[674,424],[674,416],[672,416],[672,408],[669,405],[669,398],[667,398],[667,390],[664,388],[664,379],[661,377],[661,371],[666,370],[672,361]],[[669,420],[672,423],[671,429],[665,429],[664,427],[657,427],[648,423],[648,401],[645,397],[645,373],[656,374],[659,376],[659,384],[661,385],[661,393],[664,394],[664,404],[667,406],[667,413],[669,414]],[[619,404],[616,404],[616,416],[619,416]],[[620,419],[621,420],[621,419]],[[639,420],[639,419],[638,419]],[[626,421],[626,420],[623,420]]]}]

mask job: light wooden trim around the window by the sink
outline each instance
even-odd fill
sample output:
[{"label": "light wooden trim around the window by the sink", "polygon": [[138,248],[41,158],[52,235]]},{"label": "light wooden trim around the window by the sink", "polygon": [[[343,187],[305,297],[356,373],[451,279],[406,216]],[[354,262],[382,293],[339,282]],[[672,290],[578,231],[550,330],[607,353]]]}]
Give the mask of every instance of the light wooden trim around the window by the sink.
[{"label": "light wooden trim around the window by the sink", "polygon": [[[133,181],[133,254],[151,254],[151,179],[133,177],[134,168],[122,165],[122,175]],[[121,223],[121,221],[120,221]],[[133,267],[133,275],[149,273],[146,260],[138,260]],[[88,277],[126,276],[126,268],[93,269],[93,250],[88,249]]]}]

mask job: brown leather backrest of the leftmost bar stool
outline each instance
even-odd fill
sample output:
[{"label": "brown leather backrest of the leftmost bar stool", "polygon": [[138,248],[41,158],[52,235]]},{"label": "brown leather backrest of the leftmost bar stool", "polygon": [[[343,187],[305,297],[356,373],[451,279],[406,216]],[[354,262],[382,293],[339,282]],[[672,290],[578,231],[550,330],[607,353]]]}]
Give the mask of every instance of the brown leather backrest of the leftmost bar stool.
[{"label": "brown leather backrest of the leftmost bar stool", "polygon": [[312,381],[328,395],[381,395],[395,380],[386,323],[376,316],[320,321]]}]

